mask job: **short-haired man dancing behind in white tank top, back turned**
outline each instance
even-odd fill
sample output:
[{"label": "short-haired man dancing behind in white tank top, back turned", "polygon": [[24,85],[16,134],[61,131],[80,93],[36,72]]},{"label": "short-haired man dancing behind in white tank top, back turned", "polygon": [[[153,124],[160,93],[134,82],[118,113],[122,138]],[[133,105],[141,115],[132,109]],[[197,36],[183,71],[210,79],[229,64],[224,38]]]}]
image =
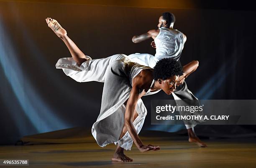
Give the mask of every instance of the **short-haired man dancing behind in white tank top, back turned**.
[{"label": "short-haired man dancing behind in white tank top, back turned", "polygon": [[[163,13],[159,18],[157,30],[149,30],[147,33],[142,35],[135,35],[132,38],[133,43],[140,43],[144,40],[153,38],[154,41],[151,42],[151,46],[156,48],[156,54],[131,54],[128,55],[132,61],[139,63],[141,65],[149,66],[154,68],[156,62],[162,58],[173,58],[174,60],[179,60],[182,49],[184,48],[184,43],[187,40],[186,35],[173,28],[175,22],[175,16],[172,13]],[[172,93],[175,100],[198,100],[195,95],[187,88],[187,84],[184,78],[180,78],[177,84],[177,89]],[[177,104],[179,101],[177,101]],[[197,104],[200,104],[199,101]],[[202,122],[202,121],[198,121]],[[193,125],[185,125],[188,130],[189,142],[197,143],[200,147],[207,147],[195,134]]]}]

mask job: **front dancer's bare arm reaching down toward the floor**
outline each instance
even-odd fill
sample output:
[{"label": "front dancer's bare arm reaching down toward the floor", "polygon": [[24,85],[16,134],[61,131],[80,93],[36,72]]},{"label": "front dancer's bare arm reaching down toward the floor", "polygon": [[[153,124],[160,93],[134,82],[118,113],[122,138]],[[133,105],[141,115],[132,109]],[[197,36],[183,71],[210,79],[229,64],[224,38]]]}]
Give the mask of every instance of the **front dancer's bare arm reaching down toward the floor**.
[{"label": "front dancer's bare arm reaching down toward the floor", "polygon": [[145,152],[148,150],[159,150],[160,149],[159,146],[156,147],[153,145],[143,145],[141,139],[138,136],[136,129],[133,126],[134,113],[137,113],[136,105],[139,98],[140,98],[139,88],[136,86],[136,84],[134,84],[126,105],[125,128],[128,130],[128,133],[131,135],[131,138],[133,138],[133,142],[141,152]]}]

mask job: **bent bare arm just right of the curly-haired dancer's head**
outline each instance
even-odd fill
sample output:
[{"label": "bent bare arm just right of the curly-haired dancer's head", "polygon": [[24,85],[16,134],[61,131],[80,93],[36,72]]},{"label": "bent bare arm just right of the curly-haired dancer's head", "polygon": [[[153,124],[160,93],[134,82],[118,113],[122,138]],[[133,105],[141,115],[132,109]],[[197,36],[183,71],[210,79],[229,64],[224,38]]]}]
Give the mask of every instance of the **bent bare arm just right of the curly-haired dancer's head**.
[{"label": "bent bare arm just right of the curly-haired dancer's head", "polygon": [[191,73],[197,70],[199,62],[197,60],[193,60],[190,63],[183,66],[183,75],[179,77],[179,82],[177,86],[183,84],[185,78],[187,78]]}]

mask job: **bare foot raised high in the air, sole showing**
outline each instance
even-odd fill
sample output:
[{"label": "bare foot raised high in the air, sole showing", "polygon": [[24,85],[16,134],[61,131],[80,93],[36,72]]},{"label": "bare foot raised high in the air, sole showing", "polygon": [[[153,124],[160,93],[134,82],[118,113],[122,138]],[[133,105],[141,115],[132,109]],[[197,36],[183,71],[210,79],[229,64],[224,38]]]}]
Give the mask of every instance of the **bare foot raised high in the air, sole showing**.
[{"label": "bare foot raised high in the air, sole showing", "polygon": [[51,28],[51,30],[53,30],[59,38],[63,38],[65,35],[67,35],[67,31],[61,27],[57,20],[54,20],[53,18],[46,18],[45,20],[48,27]]}]

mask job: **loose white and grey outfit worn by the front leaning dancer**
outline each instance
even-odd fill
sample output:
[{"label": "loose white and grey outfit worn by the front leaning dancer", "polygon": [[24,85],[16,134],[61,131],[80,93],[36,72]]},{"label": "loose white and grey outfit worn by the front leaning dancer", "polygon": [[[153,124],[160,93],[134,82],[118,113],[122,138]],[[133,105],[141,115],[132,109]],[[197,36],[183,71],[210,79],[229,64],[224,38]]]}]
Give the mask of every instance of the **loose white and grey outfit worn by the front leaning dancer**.
[{"label": "loose white and grey outfit worn by the front leaning dancer", "polygon": [[[80,67],[73,58],[60,58],[56,68],[62,69],[67,76],[77,82],[104,82],[100,114],[92,126],[92,135],[101,147],[109,143],[118,143],[125,150],[131,150],[133,139],[128,132],[119,140],[124,125],[124,103],[130,96],[132,79],[141,70],[150,67],[132,63],[126,55],[117,54],[108,58],[87,60]],[[151,86],[153,84],[154,80]],[[151,93],[149,89],[146,95],[159,91]],[[139,133],[147,114],[141,99],[138,100],[136,111],[138,117],[133,121],[133,125]]]}]

